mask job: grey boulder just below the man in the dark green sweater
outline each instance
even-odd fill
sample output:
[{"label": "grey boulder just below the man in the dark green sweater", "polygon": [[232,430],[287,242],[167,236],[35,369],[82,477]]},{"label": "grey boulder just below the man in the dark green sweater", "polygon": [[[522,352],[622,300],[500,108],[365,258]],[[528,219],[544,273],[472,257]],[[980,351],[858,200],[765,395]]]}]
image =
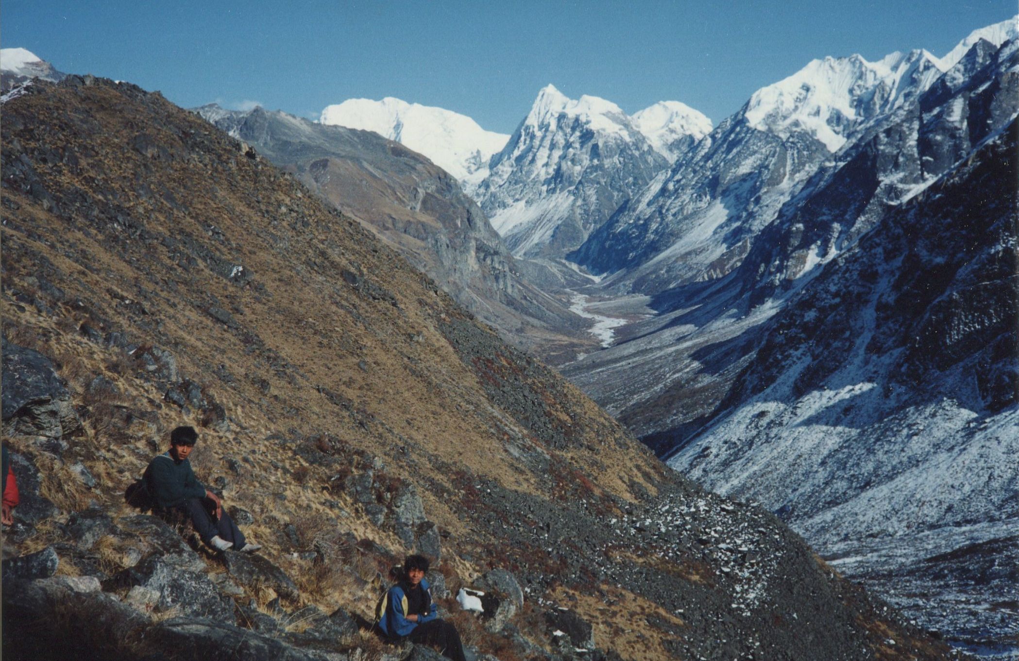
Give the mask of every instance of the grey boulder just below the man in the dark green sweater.
[{"label": "grey boulder just below the man in the dark green sweater", "polygon": [[234,623],[233,602],[216,590],[209,574],[182,568],[186,564],[185,559],[153,554],[114,574],[103,586],[106,590],[142,586],[159,593],[160,610],[176,609],[184,616]]}]

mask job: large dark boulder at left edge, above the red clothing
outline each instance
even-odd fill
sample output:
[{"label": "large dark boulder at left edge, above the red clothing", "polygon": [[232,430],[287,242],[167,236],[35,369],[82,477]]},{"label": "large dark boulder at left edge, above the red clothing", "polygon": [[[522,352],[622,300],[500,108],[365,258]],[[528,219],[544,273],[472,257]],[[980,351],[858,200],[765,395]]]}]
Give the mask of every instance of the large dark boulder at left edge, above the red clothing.
[{"label": "large dark boulder at left edge, above the red clothing", "polygon": [[70,395],[39,351],[3,342],[3,431],[60,439],[82,429]]}]

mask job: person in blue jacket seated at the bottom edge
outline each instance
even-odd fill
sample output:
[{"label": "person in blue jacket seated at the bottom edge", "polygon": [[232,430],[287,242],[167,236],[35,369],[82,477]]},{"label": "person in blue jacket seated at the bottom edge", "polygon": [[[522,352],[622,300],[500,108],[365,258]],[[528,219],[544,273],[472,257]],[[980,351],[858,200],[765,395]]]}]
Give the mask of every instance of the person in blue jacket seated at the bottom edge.
[{"label": "person in blue jacket seated at the bottom edge", "polygon": [[432,603],[426,571],[428,558],[408,556],[404,562],[404,581],[389,588],[386,595],[379,627],[391,639],[409,638],[414,643],[432,645],[447,659],[465,661],[457,627],[440,619]]}]

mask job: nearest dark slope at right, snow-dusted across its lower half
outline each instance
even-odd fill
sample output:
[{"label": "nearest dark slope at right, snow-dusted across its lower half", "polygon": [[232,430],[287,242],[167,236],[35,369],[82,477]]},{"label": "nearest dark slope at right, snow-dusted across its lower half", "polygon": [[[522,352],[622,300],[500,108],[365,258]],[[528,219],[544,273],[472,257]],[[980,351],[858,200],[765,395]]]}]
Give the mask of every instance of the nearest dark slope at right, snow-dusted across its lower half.
[{"label": "nearest dark slope at right, snow-dusted across its lower half", "polygon": [[669,460],[777,510],[841,571],[1000,658],[1019,653],[1016,131],[824,267]]}]

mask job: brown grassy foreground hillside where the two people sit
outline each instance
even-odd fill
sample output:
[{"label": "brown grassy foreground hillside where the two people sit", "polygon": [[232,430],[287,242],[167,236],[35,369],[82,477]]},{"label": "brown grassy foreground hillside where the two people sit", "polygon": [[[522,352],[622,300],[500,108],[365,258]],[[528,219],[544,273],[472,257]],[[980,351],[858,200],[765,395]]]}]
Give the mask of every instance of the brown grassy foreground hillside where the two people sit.
[{"label": "brown grassy foreground hillside where the two people sit", "polygon": [[[482,619],[436,591],[496,658],[944,657],[160,95],[34,85],[4,106],[3,164],[5,363],[63,380],[5,399],[25,505],[4,550],[44,549],[5,564],[5,655],[394,658],[357,622],[417,549],[435,586],[494,584]],[[181,423],[257,561],[123,505]]]}]

